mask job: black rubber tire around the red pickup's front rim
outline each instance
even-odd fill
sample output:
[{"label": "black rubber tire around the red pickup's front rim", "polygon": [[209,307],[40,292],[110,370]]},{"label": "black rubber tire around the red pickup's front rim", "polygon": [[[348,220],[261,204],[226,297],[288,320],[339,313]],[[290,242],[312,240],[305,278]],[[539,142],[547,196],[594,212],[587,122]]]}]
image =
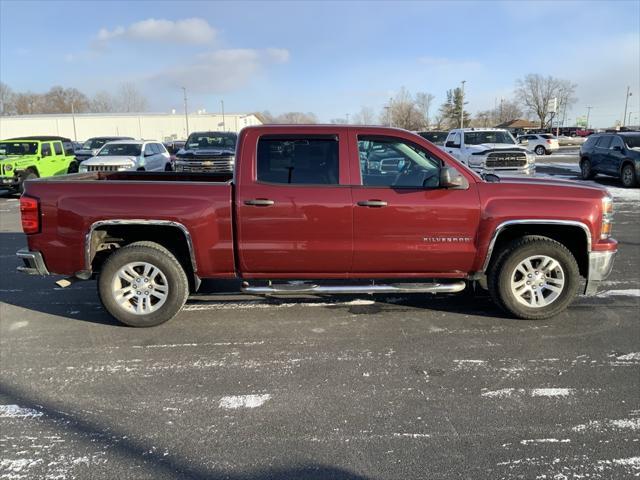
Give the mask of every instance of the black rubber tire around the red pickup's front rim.
[{"label": "black rubber tire around the red pickup's front rim", "polygon": [[[529,307],[518,301],[511,291],[511,282],[516,267],[536,255],[548,256],[559,263],[564,285],[558,297],[548,305]],[[488,286],[493,301],[508,313],[525,320],[544,320],[559,314],[573,301],[580,286],[580,270],[576,259],[564,245],[548,237],[528,235],[507,245],[504,254],[489,271]]]}]

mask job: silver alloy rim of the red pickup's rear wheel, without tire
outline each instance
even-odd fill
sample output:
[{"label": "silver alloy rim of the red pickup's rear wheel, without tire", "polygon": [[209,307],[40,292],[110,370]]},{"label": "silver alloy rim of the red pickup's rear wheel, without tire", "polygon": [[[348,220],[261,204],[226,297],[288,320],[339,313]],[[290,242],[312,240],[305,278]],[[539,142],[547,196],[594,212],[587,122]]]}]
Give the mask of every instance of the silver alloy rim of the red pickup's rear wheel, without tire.
[{"label": "silver alloy rim of the red pickup's rear wheel, without tire", "polygon": [[124,265],[113,277],[111,292],[124,310],[147,315],[158,310],[167,301],[169,283],[165,274],[147,262]]}]

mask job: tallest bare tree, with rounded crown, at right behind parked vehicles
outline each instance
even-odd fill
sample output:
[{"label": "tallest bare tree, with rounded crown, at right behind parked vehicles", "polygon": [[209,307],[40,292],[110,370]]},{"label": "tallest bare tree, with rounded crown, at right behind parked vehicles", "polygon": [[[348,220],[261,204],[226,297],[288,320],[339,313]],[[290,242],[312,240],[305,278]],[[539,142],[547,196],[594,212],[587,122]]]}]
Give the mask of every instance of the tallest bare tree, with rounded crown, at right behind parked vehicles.
[{"label": "tallest bare tree, with rounded crown, at right behind parked vehicles", "polygon": [[547,119],[551,118],[551,102],[558,99],[558,111],[576,102],[574,96],[577,85],[568,80],[537,73],[530,73],[516,82],[516,96],[520,102],[531,111],[540,121],[540,128],[544,128]]}]

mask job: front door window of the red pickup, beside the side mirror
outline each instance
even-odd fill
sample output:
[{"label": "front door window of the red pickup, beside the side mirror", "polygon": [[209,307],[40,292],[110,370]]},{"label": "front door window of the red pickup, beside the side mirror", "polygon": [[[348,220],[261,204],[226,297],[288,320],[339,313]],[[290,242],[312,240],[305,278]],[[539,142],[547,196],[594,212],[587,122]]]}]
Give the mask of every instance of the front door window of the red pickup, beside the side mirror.
[{"label": "front door window of the red pickup, beside the side mirror", "polygon": [[413,143],[393,137],[358,137],[362,185],[437,188],[440,161]]}]

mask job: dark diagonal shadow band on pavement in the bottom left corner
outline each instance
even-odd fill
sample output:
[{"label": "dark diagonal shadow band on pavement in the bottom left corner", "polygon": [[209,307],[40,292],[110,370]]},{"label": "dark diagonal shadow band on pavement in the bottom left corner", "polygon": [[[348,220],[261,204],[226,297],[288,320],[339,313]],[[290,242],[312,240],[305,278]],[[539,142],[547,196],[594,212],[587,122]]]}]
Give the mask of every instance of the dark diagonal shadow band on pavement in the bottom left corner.
[{"label": "dark diagonal shadow band on pavement in the bottom left corner", "polygon": [[[36,398],[37,397],[37,398]],[[306,464],[291,468],[273,468],[249,472],[215,471],[178,455],[166,454],[158,447],[158,439],[136,438],[134,432],[122,430],[119,425],[103,424],[86,414],[72,413],[72,408],[44,396],[32,395],[16,386],[0,383],[0,404],[18,405],[37,412],[39,420],[46,422],[59,435],[79,436],[88,449],[108,451],[115,459],[131,462],[132,471],[143,467],[152,470],[155,478],[179,478],[190,480],[367,480],[368,477],[328,465]],[[197,441],[197,439],[194,439]],[[170,445],[167,445],[170,447]],[[286,458],[286,454],[285,458]],[[5,452],[5,458],[9,456]],[[240,456],[238,457],[240,458]],[[215,460],[215,459],[208,459]],[[104,478],[111,478],[114,466],[107,462],[103,467],[92,466],[92,478],[102,478],[98,469],[104,468]],[[0,470],[1,473],[1,470]],[[131,472],[129,472],[131,473]],[[40,477],[43,478],[43,477]]]}]

